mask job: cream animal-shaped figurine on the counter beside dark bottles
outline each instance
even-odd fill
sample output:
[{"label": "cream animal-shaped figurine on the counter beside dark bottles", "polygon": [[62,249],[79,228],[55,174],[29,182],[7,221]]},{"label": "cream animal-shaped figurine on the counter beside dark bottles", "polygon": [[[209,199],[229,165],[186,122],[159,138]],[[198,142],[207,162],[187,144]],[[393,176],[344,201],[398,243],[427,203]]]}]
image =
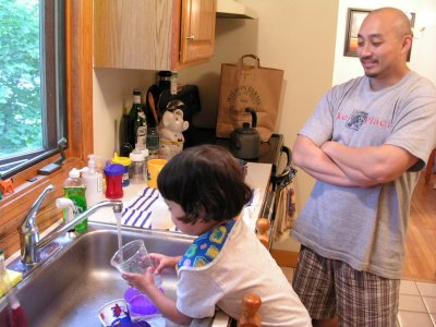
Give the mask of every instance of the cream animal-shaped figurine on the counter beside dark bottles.
[{"label": "cream animal-shaped figurine on the counter beside dark bottles", "polygon": [[159,156],[171,159],[183,150],[184,136],[182,132],[190,126],[187,121],[183,121],[183,111],[165,111],[159,124]]}]

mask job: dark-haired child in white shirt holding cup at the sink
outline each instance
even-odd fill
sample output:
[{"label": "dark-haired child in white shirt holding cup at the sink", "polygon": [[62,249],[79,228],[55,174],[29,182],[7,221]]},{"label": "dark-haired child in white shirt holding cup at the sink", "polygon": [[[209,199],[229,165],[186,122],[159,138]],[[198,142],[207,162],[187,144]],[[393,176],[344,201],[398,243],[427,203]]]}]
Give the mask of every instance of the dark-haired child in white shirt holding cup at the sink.
[{"label": "dark-haired child in white shirt holding cup at the sink", "polygon": [[178,269],[177,301],[145,276],[123,274],[177,324],[214,316],[216,306],[238,319],[242,299],[262,299],[262,326],[312,326],[307,311],[264,245],[239,215],[252,197],[241,167],[225,148],[201,145],[173,157],[160,171],[158,189],[171,219],[198,238],[182,257],[150,254],[159,274]]}]

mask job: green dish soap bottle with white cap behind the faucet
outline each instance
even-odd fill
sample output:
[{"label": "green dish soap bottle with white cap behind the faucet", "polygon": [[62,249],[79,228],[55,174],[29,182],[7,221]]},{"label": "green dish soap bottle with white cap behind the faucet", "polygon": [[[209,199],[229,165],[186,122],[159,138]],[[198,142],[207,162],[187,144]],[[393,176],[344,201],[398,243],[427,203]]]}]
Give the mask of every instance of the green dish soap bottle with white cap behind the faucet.
[{"label": "green dish soap bottle with white cap behind the faucet", "polygon": [[[75,206],[75,214],[82,214],[86,211],[86,186],[83,180],[81,179],[81,170],[73,168],[70,171],[70,177],[66,179],[63,185],[64,196],[70,198]],[[63,220],[65,221],[65,213],[63,216]],[[77,223],[74,227],[75,231],[84,231],[88,228],[88,220],[85,219],[81,223]]]}]

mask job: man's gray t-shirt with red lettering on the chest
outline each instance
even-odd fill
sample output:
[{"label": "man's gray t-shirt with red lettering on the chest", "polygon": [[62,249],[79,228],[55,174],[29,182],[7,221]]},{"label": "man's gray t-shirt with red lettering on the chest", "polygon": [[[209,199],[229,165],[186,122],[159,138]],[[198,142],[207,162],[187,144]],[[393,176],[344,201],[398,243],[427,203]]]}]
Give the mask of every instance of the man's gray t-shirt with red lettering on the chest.
[{"label": "man's gray t-shirt with red lettering on the chest", "polygon": [[317,181],[293,229],[296,240],[322,256],[401,278],[410,198],[436,145],[436,88],[414,72],[378,92],[368,77],[354,78],[332,87],[299,134],[318,146],[390,144],[420,159],[397,180],[373,187]]}]

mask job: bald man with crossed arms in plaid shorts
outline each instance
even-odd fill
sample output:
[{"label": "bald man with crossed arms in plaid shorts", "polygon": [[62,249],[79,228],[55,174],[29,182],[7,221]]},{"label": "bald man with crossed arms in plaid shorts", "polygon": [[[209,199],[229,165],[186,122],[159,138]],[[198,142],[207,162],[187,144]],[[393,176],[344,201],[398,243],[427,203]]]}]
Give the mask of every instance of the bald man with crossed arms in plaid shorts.
[{"label": "bald man with crossed arms in plaid shorts", "polygon": [[365,76],[335,86],[300,131],[294,164],[317,181],[296,221],[293,288],[314,326],[397,326],[412,191],[436,144],[436,88],[407,66],[409,19],[371,12]]}]

